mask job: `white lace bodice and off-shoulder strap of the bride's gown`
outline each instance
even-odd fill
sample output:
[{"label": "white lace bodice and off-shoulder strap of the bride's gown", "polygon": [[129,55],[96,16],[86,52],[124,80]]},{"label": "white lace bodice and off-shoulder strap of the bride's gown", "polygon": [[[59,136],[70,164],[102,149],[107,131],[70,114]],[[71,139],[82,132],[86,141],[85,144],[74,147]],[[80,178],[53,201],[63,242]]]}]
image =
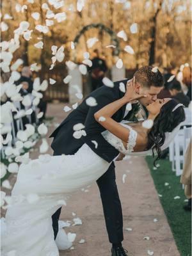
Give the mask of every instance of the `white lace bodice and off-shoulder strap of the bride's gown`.
[{"label": "white lace bodice and off-shoulder strap of the bride's gown", "polygon": [[102,136],[104,136],[104,138],[119,152],[121,152],[124,155],[127,155],[133,151],[133,148],[136,145],[137,132],[134,131],[134,129],[132,129],[130,125],[123,123],[120,124],[129,129],[130,131],[129,138],[127,138],[127,148],[124,147],[124,143],[122,143],[122,140],[120,140],[118,137],[116,137],[109,131],[102,132]]}]

